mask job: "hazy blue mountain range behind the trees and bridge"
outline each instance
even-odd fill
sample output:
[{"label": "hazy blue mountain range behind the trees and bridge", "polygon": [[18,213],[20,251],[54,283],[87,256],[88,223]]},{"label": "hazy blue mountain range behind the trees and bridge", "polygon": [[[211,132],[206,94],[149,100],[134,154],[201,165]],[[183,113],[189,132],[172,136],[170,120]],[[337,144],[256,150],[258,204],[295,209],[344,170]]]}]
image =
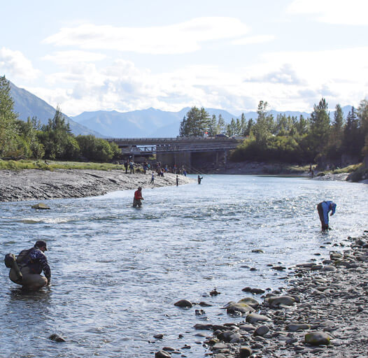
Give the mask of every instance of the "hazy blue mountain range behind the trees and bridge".
[{"label": "hazy blue mountain range behind the trees and bridge", "polygon": [[[14,100],[15,112],[21,120],[27,121],[28,117],[36,116],[41,123],[46,124],[55,115],[55,108],[38,98],[31,92],[15,86],[10,82],[10,92]],[[205,108],[209,115],[217,118],[222,115],[225,122],[229,123],[232,118],[240,116],[232,115],[226,110],[216,108]],[[94,112],[83,112],[75,117],[64,115],[71,126],[73,134],[92,134],[99,138],[173,138],[178,136],[179,127],[183,117],[190,110],[183,108],[178,112],[170,112],[148,108],[144,110],[133,110],[130,112],[118,112],[116,110],[97,110]],[[344,116],[351,110],[351,106],[342,108]],[[269,113],[276,117],[280,113],[285,115],[303,115],[309,117],[310,113],[299,111],[277,111],[270,110]],[[334,111],[330,111],[333,117]],[[246,120],[257,118],[257,112],[244,112]]]}]

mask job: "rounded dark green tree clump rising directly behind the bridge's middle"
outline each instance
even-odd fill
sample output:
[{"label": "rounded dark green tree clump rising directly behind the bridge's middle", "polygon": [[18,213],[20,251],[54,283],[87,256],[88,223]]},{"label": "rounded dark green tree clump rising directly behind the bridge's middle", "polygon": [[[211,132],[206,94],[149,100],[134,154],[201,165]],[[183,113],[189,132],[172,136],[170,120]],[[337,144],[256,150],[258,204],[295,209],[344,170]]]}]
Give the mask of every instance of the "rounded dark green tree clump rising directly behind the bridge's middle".
[{"label": "rounded dark green tree clump rising directly behind the bridge's middle", "polygon": [[183,137],[200,136],[203,137],[210,127],[211,119],[202,107],[192,107],[181,122],[179,135]]}]

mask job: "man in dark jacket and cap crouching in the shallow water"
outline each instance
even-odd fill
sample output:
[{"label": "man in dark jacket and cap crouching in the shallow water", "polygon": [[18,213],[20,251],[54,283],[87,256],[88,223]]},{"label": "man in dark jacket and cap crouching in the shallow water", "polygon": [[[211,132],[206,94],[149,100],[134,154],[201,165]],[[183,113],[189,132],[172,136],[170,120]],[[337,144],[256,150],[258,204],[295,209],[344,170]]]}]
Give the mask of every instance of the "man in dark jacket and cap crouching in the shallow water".
[{"label": "man in dark jacket and cap crouching in the shallow water", "polygon": [[[51,270],[44,254],[47,250],[43,240],[36,241],[34,247],[29,250],[22,250],[10,268],[10,280],[32,290],[50,285]],[[45,276],[41,275],[42,271]]]}]

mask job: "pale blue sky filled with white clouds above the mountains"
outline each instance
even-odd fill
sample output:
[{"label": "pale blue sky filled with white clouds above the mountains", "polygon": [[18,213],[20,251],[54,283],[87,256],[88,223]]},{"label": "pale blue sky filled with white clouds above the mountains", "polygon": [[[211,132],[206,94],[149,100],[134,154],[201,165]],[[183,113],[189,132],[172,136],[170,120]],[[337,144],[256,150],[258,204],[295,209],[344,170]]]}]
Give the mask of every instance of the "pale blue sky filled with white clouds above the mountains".
[{"label": "pale blue sky filled with white clouds above the mountains", "polygon": [[0,76],[66,115],[368,96],[367,0],[0,3]]}]

